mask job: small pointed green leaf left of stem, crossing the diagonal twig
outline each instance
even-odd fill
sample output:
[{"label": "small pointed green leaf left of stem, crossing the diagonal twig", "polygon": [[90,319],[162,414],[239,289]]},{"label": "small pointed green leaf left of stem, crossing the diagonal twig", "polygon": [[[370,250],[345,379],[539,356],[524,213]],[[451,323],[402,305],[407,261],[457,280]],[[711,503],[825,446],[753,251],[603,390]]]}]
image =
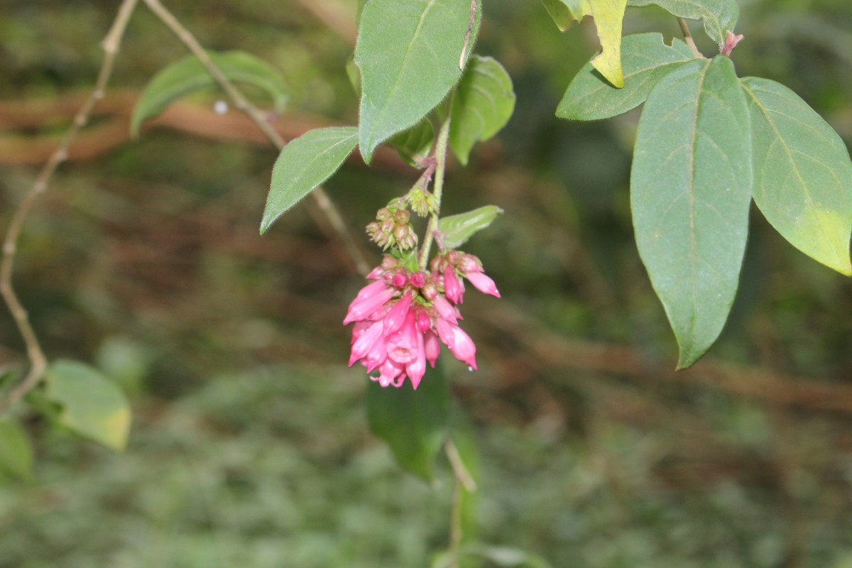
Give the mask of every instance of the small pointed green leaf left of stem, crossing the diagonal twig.
[{"label": "small pointed green leaf left of stem, crossing the diagonal twig", "polygon": [[272,169],[261,234],[287,209],[330,178],[357,143],[358,129],[344,126],[310,130],[284,146]]}]

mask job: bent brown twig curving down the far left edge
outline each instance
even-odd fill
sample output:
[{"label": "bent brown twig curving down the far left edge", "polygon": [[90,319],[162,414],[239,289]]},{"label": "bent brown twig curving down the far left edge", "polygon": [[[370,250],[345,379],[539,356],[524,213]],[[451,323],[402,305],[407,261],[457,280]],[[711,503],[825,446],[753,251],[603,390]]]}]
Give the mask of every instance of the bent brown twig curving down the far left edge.
[{"label": "bent brown twig curving down the far left edge", "polygon": [[18,250],[20,231],[24,226],[27,215],[30,214],[38,198],[47,191],[50,178],[53,176],[56,168],[67,158],[68,147],[71,146],[80,129],[89,122],[89,115],[95,103],[103,98],[104,90],[107,88],[107,83],[112,75],[112,65],[115,62],[116,55],[118,55],[121,39],[124,37],[124,30],[130,21],[130,16],[133,14],[136,2],[137,0],[124,0],[119,7],[118,14],[112,22],[112,27],[107,32],[107,37],[104,37],[103,43],[101,43],[101,47],[104,50],[104,60],[101,64],[101,71],[98,72],[95,89],[92,90],[89,98],[83,103],[60,146],[56,148],[47,163],[44,164],[42,170],[38,173],[36,181],[32,184],[32,188],[26,194],[24,200],[21,201],[18,209],[15,210],[12,221],[9,222],[9,228],[6,230],[6,238],[3,239],[3,261],[0,262],[0,294],[3,295],[3,301],[9,306],[9,312],[12,313],[14,323],[17,325],[20,335],[24,339],[26,355],[30,360],[30,369],[27,371],[23,381],[14,387],[8,396],[0,400],[0,412],[9,410],[11,406],[14,406],[20,399],[23,399],[26,393],[29,393],[36,387],[38,382],[41,381],[44,370],[47,369],[48,365],[47,357],[44,354],[41,343],[38,341],[35,330],[32,329],[26,309],[20,303],[12,285],[14,259],[15,253]]}]

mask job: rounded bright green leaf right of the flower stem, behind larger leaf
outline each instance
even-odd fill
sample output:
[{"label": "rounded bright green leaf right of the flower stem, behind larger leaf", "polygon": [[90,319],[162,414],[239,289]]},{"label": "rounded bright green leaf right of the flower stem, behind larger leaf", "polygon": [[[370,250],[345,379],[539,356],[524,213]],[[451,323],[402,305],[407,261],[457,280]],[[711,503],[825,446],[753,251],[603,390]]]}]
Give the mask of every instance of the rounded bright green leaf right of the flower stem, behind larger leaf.
[{"label": "rounded bright green leaf right of the flower stem, behind larger leaf", "polygon": [[474,144],[496,135],[514,111],[515,91],[509,73],[498,60],[474,55],[452,102],[450,146],[458,161],[467,165]]}]

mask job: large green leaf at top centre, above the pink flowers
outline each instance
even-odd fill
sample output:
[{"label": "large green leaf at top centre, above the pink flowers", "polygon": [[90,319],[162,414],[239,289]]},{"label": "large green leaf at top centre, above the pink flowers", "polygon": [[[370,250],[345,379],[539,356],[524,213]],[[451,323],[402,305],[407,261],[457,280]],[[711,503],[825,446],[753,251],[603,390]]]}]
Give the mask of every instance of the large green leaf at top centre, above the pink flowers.
[{"label": "large green leaf at top centre, above the pink flowers", "polygon": [[361,14],[360,149],[369,163],[383,141],[420,122],[462,76],[479,30],[471,0],[371,0]]}]

